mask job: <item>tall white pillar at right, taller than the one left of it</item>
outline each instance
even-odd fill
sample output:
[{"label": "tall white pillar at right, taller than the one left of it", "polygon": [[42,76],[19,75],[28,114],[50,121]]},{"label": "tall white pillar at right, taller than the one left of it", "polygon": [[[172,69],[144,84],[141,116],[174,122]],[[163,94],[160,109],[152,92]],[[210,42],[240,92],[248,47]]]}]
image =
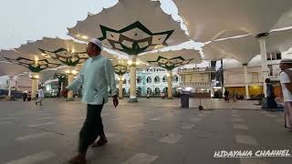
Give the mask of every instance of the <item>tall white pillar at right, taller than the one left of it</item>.
[{"label": "tall white pillar at right, taller than the one left of it", "polygon": [[262,58],[262,76],[263,76],[263,89],[266,97],[266,82],[265,79],[268,77],[268,68],[266,60],[266,37],[260,37],[259,39],[261,58]]}]

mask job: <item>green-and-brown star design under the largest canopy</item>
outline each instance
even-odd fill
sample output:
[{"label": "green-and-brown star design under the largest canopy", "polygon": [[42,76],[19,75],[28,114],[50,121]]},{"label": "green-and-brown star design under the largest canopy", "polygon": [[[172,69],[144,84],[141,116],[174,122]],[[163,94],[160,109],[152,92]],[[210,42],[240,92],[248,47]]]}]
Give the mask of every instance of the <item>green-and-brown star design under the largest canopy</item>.
[{"label": "green-and-brown star design under the largest canopy", "polygon": [[152,33],[139,21],[120,30],[101,26],[102,36],[99,40],[110,43],[110,48],[120,50],[128,55],[138,55],[161,46],[167,46],[166,40],[172,36],[174,30]]}]

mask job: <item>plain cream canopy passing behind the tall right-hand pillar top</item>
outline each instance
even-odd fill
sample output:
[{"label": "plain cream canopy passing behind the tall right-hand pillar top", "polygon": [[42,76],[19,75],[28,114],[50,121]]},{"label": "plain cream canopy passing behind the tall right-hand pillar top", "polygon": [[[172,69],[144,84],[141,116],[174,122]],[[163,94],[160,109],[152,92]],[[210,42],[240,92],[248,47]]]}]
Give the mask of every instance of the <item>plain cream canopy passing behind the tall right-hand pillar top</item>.
[{"label": "plain cream canopy passing behind the tall right-hand pillar top", "polygon": [[[266,38],[268,54],[287,51],[291,46],[292,29],[271,32]],[[259,54],[259,42],[253,35],[217,40],[203,46],[206,59],[234,58],[242,64],[247,64]]]}]

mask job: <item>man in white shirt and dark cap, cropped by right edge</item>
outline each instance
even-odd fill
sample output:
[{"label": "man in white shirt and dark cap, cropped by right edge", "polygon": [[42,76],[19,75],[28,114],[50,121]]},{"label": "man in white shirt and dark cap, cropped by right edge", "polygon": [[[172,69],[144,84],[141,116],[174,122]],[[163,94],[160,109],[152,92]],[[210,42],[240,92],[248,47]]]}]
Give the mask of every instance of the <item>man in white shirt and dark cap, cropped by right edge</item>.
[{"label": "man in white shirt and dark cap, cropped by right edge", "polygon": [[280,63],[280,83],[285,102],[285,127],[292,128],[292,59],[283,59]]}]

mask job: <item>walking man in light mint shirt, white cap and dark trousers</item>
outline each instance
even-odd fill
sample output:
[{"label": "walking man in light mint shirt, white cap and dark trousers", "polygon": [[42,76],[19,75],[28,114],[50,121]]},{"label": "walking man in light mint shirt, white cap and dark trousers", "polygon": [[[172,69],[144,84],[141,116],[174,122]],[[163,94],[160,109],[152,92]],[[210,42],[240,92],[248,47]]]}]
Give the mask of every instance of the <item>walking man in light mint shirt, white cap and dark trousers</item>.
[{"label": "walking man in light mint shirt, white cap and dark trousers", "polygon": [[113,105],[117,107],[119,104],[113,67],[110,59],[100,55],[101,50],[102,43],[99,39],[91,39],[87,47],[89,59],[84,63],[78,77],[66,87],[76,90],[82,85],[82,102],[88,104],[87,117],[79,132],[78,154],[68,160],[69,164],[85,164],[87,150],[98,137],[99,140],[92,145],[93,148],[108,142],[100,116],[104,103],[108,102],[108,87],[112,93]]}]

